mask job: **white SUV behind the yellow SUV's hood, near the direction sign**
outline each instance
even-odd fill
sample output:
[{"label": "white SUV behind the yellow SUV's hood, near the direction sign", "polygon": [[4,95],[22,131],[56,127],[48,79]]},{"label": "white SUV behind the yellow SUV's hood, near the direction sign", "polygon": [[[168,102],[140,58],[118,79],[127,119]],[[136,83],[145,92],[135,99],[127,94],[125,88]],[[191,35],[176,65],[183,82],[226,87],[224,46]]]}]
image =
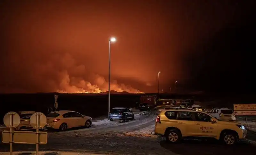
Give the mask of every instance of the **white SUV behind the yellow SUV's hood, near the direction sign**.
[{"label": "white SUV behind the yellow SUV's hood, near the direction sign", "polygon": [[209,114],[219,120],[229,120],[235,121],[236,116],[234,115],[234,111],[228,108],[214,108],[212,109]]}]

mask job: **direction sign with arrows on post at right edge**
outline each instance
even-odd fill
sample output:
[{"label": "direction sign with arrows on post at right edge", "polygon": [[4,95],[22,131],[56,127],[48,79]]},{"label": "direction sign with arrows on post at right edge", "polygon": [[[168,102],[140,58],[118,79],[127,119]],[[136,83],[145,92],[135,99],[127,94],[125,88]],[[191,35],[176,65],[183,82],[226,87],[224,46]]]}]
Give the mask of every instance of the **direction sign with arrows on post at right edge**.
[{"label": "direction sign with arrows on post at right edge", "polygon": [[256,104],[234,104],[234,112],[236,116],[245,116],[247,123],[247,116],[256,116]]}]

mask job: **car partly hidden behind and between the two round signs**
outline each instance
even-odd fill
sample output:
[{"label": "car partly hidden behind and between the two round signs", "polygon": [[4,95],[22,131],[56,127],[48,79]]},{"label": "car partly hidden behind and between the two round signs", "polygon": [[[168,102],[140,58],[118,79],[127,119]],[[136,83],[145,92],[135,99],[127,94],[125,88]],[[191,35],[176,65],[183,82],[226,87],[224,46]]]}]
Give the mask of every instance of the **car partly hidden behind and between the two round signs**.
[{"label": "car partly hidden behind and between the two round signs", "polygon": [[34,129],[30,125],[30,117],[36,113],[36,111],[20,111],[18,114],[20,115],[20,124],[15,128],[15,130],[29,130]]}]

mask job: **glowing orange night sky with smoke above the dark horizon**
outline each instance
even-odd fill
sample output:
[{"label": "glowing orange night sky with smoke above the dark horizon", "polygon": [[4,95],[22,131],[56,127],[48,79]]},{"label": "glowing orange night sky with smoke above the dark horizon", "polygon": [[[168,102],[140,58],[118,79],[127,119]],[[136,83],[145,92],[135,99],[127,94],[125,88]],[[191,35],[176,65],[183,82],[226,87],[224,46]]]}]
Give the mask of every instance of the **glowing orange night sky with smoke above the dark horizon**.
[{"label": "glowing orange night sky with smoke above the dark horizon", "polygon": [[[253,0],[0,2],[0,93],[252,92]],[[254,42],[253,42],[254,41]]]}]

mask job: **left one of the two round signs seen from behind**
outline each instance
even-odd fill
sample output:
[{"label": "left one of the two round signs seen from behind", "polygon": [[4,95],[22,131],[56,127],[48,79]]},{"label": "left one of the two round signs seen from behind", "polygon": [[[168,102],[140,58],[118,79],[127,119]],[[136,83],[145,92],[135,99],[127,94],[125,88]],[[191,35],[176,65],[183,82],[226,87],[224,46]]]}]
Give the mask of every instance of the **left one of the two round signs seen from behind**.
[{"label": "left one of the two round signs seen from behind", "polygon": [[[11,126],[12,122],[12,126]],[[16,112],[8,112],[7,114],[4,115],[4,125],[8,128],[15,128],[20,125],[20,115],[17,114]]]}]

